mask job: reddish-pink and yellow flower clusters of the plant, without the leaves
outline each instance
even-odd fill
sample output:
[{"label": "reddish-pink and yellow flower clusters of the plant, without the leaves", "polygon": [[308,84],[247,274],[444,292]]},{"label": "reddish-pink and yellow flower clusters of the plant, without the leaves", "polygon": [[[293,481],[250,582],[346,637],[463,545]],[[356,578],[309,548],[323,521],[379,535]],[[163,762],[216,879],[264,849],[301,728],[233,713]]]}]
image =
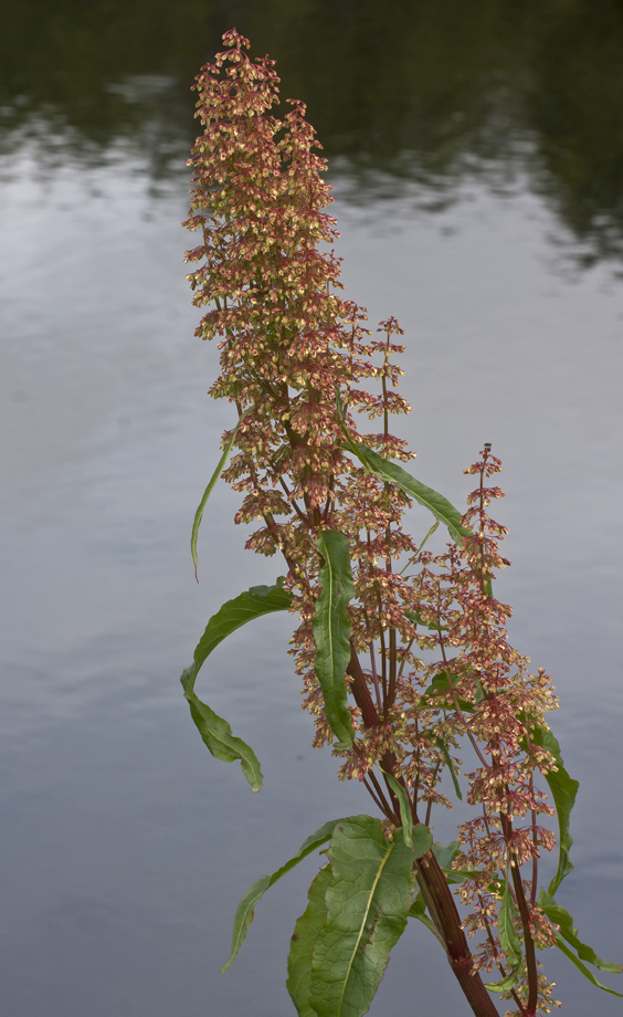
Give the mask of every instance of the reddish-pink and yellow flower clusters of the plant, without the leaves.
[{"label": "reddish-pink and yellow flower clusters of the plant, without the leaves", "polygon": [[[351,707],[353,747],[335,749],[342,778],[363,780],[393,821],[395,803],[372,772],[381,761],[410,794],[414,817],[423,804],[429,822],[435,804],[450,806],[439,788],[443,768],[451,761],[458,772],[454,754],[471,743],[477,765],[467,774],[468,801],[478,815],[461,827],[463,855],[455,867],[474,872],[461,892],[471,909],[464,927],[485,936],[476,965],[504,972],[496,887],[505,876],[513,879],[527,955],[528,941],[552,943],[551,925],[535,900],[536,861],[553,845],[538,817],[552,810],[534,774],[546,773],[555,761],[530,743],[529,728],[545,724],[556,701],[548,675],[530,674],[528,660],[508,644],[510,608],[492,594],[495,572],[509,564],[497,543],[506,530],[486,512],[501,492],[484,480],[500,463],[486,448],[466,471],[481,479],[464,516],[474,536],[435,557],[401,528],[409,499],[345,454],[336,387],[355,441],[388,459],[413,455],[389,431],[390,415],[409,412],[395,391],[402,371],[390,359],[403,352],[392,343],[402,333],[389,318],[378,329],[383,337],[370,338],[365,310],[337,294],[339,261],[319,249],[338,235],[336,220],[324,211],[332,199],[320,176],[326,162],[313,151],[319,146],[305,106],[289,101],[285,118],[274,117],[274,62],[252,62],[244,52],[249,42],[235,31],[223,38],[228,49],[197,84],[203,134],[192,153],[187,226],[201,232],[202,243],[187,261],[198,264],[188,276],[193,301],[209,307],[197,334],[221,339],[221,375],[210,392],[235,403],[239,417],[244,413],[224,474],[244,495],[235,518],[262,521],[247,547],[264,555],[281,549],[286,558],[287,588],[300,618],[291,652],[315,716],[317,746],[334,735],[314,672],[319,590],[314,541],[324,527],[349,538],[356,597],[348,608],[348,681],[353,690],[359,682],[359,692]],[[371,379],[380,382],[378,396],[366,387]],[[352,410],[380,418],[382,430],[360,434]],[[363,654],[367,665],[359,662]],[[424,663],[421,654],[435,659]],[[531,881],[518,874],[527,862]],[[511,993],[519,1006],[514,1014],[527,1013],[526,978]],[[551,989],[538,978],[537,1009],[549,1013]]]}]

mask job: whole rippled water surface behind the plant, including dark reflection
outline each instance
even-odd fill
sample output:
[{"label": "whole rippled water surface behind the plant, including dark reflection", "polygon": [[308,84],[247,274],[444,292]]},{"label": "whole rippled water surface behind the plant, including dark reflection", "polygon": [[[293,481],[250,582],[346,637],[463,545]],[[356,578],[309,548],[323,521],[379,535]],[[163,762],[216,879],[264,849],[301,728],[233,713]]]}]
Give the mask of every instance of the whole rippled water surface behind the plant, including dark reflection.
[{"label": "whole rippled water surface behind the plant, including dark reflection", "polygon": [[[244,552],[224,485],[199,586],[189,551],[232,423],[205,395],[218,359],[193,338],[183,265],[190,86],[234,25],[307,103],[347,297],[405,329],[413,472],[461,505],[483,442],[504,460],[497,591],[514,644],[555,677],[580,780],[559,900],[623,961],[619,0],[0,0],[0,15],[3,1017],[289,1017],[317,858],[219,975],[235,905],[327,818],[369,810],[309,747],[287,617],[231,637],[198,685],[255,748],[258,795],[209,755],[178,680],[222,601],[284,570]],[[435,838],[460,818],[435,817]],[[541,961],[567,1017],[621,1013]],[[410,925],[370,1013],[465,1006]]]}]

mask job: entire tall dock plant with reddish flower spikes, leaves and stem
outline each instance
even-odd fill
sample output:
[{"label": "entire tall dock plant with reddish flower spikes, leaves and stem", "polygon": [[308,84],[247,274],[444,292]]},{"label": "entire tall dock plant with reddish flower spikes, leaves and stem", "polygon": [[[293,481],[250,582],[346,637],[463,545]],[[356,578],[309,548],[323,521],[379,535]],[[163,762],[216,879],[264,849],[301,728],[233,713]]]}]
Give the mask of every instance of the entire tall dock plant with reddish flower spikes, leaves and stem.
[{"label": "entire tall dock plant with reddish flower spikes, leaves and stem", "polygon": [[[537,950],[559,946],[584,972],[573,950],[598,967],[623,968],[583,946],[553,899],[572,868],[578,785],[546,723],[557,705],[550,679],[530,673],[509,646],[510,608],[493,594],[496,573],[509,564],[499,552],[506,528],[487,511],[503,494],[488,486],[500,462],[485,445],[465,471],[478,485],[463,516],[400,465],[414,458],[390,432],[390,416],[410,409],[397,390],[402,329],[390,317],[371,333],[365,308],[339,295],[330,250],[338,233],[326,212],[332,198],[305,106],[288,101],[289,112],[275,117],[274,61],[251,61],[235,30],[223,40],[226,49],[196,85],[203,133],[186,226],[201,242],[187,262],[193,302],[209,308],[197,335],[219,337],[221,374],[210,394],[235,406],[237,423],[223,434],[192,547],[194,556],[203,507],[232,452],[223,476],[243,495],[235,521],[260,522],[246,547],[281,552],[287,576],[223,605],[182,684],[210,751],[240,761],[260,789],[255,754],[197,698],[194,680],[244,621],[272,610],[297,615],[291,653],[314,744],[332,746],[340,777],[362,782],[382,817],[327,824],[260,879],[236,912],[226,966],[263,892],[329,841],[329,863],[312,884],[288,958],[287,987],[302,1017],[367,1013],[409,916],[437,937],[474,1014],[497,1015],[490,993],[511,1000],[507,1015],[548,1014],[560,1004]],[[361,432],[355,413],[377,430]],[[435,516],[419,543],[403,528],[413,503]],[[454,543],[435,556],[424,545],[440,522]],[[474,759],[461,780],[458,751]],[[430,831],[433,809],[452,807],[444,773],[460,797],[467,782],[474,807],[451,845]],[[558,872],[539,893],[541,851],[556,845],[547,819],[556,812]],[[482,973],[493,969],[500,981],[485,983]]]}]

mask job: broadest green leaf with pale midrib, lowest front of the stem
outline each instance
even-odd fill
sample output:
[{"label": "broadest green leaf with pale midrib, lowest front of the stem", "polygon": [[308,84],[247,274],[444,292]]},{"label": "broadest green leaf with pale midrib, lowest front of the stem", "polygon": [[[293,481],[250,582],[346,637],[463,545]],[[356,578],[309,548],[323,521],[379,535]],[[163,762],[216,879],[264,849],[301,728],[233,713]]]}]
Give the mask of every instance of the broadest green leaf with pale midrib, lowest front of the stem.
[{"label": "broadest green leaf with pale midrib, lowest front of the stem", "polygon": [[327,919],[312,958],[309,1006],[317,1017],[362,1017],[406,925],[414,855],[395,830],[355,816],[338,822],[329,847]]}]

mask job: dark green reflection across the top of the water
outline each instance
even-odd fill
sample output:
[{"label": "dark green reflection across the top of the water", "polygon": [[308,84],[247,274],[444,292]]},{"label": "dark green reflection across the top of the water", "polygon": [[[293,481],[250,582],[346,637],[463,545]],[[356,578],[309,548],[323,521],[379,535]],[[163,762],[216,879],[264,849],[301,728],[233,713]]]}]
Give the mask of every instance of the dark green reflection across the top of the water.
[{"label": "dark green reflection across the top of the water", "polygon": [[443,201],[521,170],[588,261],[623,254],[620,0],[4,0],[4,147],[183,172],[189,86],[234,24],[362,188],[382,170]]}]

